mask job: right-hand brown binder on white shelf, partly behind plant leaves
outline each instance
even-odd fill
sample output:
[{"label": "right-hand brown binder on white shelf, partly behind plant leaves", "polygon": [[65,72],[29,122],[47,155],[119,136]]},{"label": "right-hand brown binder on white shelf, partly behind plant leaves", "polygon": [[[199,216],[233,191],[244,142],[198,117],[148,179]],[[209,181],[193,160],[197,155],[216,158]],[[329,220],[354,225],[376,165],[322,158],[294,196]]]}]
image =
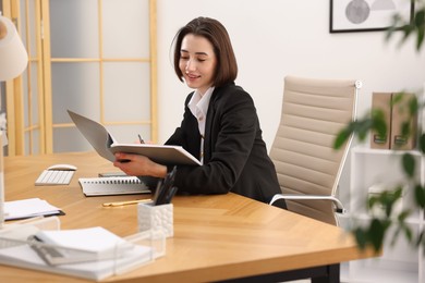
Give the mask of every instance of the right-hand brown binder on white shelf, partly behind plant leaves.
[{"label": "right-hand brown binder on white shelf, partly behind plant leaves", "polygon": [[[417,116],[409,120],[409,103],[415,97],[414,94],[400,93],[392,94],[392,100],[401,96],[401,100],[392,104],[391,111],[391,149],[411,150],[416,146]],[[404,136],[402,133],[402,124],[409,122],[411,133]]]}]

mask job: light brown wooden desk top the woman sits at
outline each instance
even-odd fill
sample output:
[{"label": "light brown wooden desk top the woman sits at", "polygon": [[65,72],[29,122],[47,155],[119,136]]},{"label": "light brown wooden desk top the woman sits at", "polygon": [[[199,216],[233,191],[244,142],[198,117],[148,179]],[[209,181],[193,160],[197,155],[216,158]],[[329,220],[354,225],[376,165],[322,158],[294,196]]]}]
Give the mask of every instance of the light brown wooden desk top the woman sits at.
[{"label": "light brown wooden desk top the woman sits at", "polygon": [[[9,157],[4,163],[7,200],[29,197],[48,200],[66,213],[60,217],[62,229],[101,225],[121,236],[137,232],[136,206],[101,206],[106,201],[134,199],[135,196],[87,198],[82,194],[78,177],[117,171],[96,153]],[[36,187],[34,182],[41,170],[53,163],[71,163],[78,168],[71,184]],[[179,196],[173,204],[174,236],[167,239],[167,255],[106,281],[223,281],[335,263],[331,267],[339,267],[339,262],[372,256],[359,253],[355,243],[336,226],[239,195]],[[292,273],[289,274],[291,278]],[[275,280],[268,278],[262,282]],[[0,282],[86,281],[0,266]],[[243,282],[248,281],[244,279]]]}]

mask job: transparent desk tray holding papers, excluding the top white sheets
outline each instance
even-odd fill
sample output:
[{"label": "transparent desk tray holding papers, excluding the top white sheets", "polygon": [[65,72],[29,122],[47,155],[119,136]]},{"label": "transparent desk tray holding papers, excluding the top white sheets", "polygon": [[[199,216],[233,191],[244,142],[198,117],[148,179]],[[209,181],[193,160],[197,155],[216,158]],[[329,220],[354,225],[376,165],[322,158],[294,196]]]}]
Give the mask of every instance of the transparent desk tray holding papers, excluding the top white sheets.
[{"label": "transparent desk tray holding papers, excluding the top white sheets", "polygon": [[[101,254],[31,239],[42,229],[59,231],[59,219],[52,217],[0,230],[0,263],[99,281],[153,262],[166,254],[165,236],[154,231],[122,237],[122,242]],[[49,262],[46,257],[54,258],[50,251],[62,258]]]}]

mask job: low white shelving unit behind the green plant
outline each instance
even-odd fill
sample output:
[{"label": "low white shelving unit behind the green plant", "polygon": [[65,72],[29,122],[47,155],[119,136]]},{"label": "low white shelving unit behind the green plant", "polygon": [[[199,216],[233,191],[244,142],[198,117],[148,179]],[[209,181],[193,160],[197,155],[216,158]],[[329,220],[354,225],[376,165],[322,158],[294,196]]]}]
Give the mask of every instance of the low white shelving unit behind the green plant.
[{"label": "low white shelving unit behind the green plant", "polygon": [[[341,226],[350,229],[352,225],[367,223],[371,220],[366,207],[368,188],[376,184],[391,185],[392,188],[403,180],[400,165],[402,152],[363,147],[351,150],[350,189],[345,190],[344,195],[349,213],[340,218]],[[416,160],[417,181],[424,184],[424,158],[417,151],[411,152]],[[403,196],[402,207],[412,207],[413,201],[412,193],[408,193]],[[406,222],[418,234],[424,230],[424,211],[414,211]],[[382,256],[343,263],[341,282],[423,283],[425,282],[424,255],[422,247],[411,247],[404,237],[399,237],[393,245],[391,238],[387,237]]]}]

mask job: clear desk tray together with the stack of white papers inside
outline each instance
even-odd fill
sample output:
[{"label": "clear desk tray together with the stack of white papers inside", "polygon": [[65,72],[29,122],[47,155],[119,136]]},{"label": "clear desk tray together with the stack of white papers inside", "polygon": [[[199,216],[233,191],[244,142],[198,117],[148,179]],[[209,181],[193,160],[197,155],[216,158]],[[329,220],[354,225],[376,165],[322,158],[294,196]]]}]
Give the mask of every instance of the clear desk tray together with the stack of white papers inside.
[{"label": "clear desk tray together with the stack of white papers inside", "polygon": [[[42,231],[37,223],[26,223],[1,231],[0,263],[98,281],[151,262],[166,253],[165,236],[159,232],[146,231],[121,238],[101,227],[76,230],[80,237],[85,237],[78,243],[76,234],[71,235],[75,237],[72,239],[70,231],[61,231],[59,225],[53,229],[57,230]],[[46,242],[32,239],[34,235]],[[108,243],[102,242],[106,235]],[[49,239],[53,241],[47,243]],[[86,247],[80,245],[83,242],[97,244]],[[73,244],[66,245],[70,243]]]}]

